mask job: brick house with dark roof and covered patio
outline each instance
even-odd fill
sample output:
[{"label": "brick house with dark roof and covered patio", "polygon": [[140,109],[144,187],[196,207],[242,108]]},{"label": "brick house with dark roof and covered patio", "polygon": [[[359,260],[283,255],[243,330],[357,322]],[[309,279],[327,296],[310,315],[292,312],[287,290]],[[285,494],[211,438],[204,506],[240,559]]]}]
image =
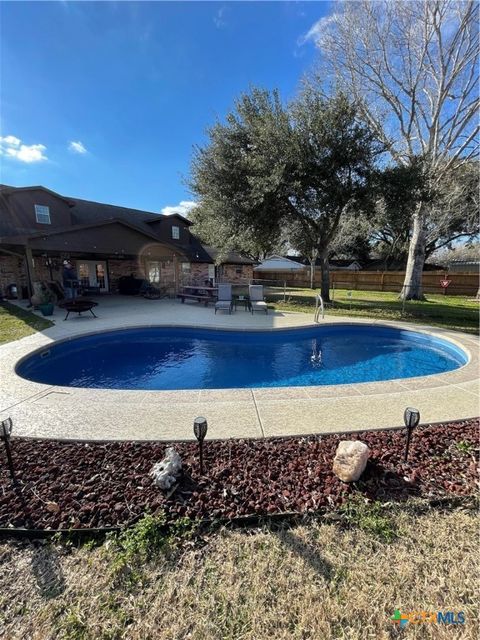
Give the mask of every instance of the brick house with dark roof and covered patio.
[{"label": "brick house with dark roof and covered patio", "polygon": [[[253,277],[250,260],[230,254],[215,264],[181,215],[162,215],[62,196],[42,186],[0,185],[0,290],[27,298],[33,283],[61,280],[70,260],[83,285],[117,292],[133,275],[173,290],[234,274]],[[228,261],[230,260],[230,262]]]}]

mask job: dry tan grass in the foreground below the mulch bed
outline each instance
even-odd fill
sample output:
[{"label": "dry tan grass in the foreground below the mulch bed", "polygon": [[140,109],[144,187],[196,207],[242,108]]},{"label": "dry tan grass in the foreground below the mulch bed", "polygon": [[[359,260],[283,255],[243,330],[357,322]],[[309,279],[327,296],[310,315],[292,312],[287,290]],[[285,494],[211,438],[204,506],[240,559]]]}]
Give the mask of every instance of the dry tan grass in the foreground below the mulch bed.
[{"label": "dry tan grass in the foreground below the mulch bed", "polygon": [[[391,543],[313,523],[224,531],[202,549],[125,567],[110,546],[0,544],[0,636],[14,639],[478,638],[474,511],[395,510]],[[121,568],[123,567],[123,568]],[[464,611],[464,626],[390,621]],[[3,635],[2,635],[3,634]]]}]

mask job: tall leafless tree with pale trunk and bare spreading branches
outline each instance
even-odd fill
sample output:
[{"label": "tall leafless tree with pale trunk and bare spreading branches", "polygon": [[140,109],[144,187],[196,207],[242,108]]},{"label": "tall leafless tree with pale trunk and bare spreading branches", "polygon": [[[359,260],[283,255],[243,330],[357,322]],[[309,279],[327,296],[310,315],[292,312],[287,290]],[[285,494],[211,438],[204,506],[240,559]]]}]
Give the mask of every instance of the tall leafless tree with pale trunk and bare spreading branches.
[{"label": "tall leafless tree with pale trunk and bare spreading branches", "polygon": [[[430,189],[478,156],[478,3],[358,0],[317,25],[322,59],[398,165],[422,156]],[[412,213],[404,297],[420,299],[432,207]]]}]

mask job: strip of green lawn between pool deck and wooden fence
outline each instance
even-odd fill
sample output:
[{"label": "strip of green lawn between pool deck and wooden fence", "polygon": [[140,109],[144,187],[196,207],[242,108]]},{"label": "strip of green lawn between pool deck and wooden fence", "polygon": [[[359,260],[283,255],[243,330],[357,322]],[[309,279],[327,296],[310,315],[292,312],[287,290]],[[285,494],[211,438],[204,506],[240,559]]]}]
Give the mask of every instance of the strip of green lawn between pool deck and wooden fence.
[{"label": "strip of green lawn between pool deck and wooden fence", "polygon": [[[279,291],[279,290],[278,290]],[[276,298],[275,308],[285,311],[314,312],[317,293],[312,289],[287,289],[287,301],[283,302],[283,292]],[[464,296],[444,296],[427,294],[425,302],[409,301],[403,305],[397,293],[380,291],[350,291],[336,289],[333,304],[327,305],[326,315],[363,316],[385,320],[402,320],[430,324],[445,329],[479,333],[479,303]],[[268,299],[267,290],[267,299]]]}]

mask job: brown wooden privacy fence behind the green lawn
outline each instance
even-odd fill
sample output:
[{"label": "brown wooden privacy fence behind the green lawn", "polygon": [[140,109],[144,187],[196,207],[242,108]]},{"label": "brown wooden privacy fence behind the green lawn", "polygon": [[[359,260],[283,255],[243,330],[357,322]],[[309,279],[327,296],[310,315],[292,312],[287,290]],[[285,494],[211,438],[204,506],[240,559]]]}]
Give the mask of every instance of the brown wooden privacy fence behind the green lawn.
[{"label": "brown wooden privacy fence behind the green lawn", "polygon": [[[259,276],[261,276],[259,278]],[[263,279],[285,282],[288,287],[309,287],[310,272],[302,271],[254,271],[255,282]],[[448,273],[446,271],[424,271],[423,290],[425,293],[444,293],[440,281],[450,280],[446,289],[448,295],[476,296],[479,289],[478,273]],[[330,287],[360,291],[392,291],[400,293],[405,280],[405,271],[330,271]],[[320,287],[320,272],[315,273],[314,287]]]}]

